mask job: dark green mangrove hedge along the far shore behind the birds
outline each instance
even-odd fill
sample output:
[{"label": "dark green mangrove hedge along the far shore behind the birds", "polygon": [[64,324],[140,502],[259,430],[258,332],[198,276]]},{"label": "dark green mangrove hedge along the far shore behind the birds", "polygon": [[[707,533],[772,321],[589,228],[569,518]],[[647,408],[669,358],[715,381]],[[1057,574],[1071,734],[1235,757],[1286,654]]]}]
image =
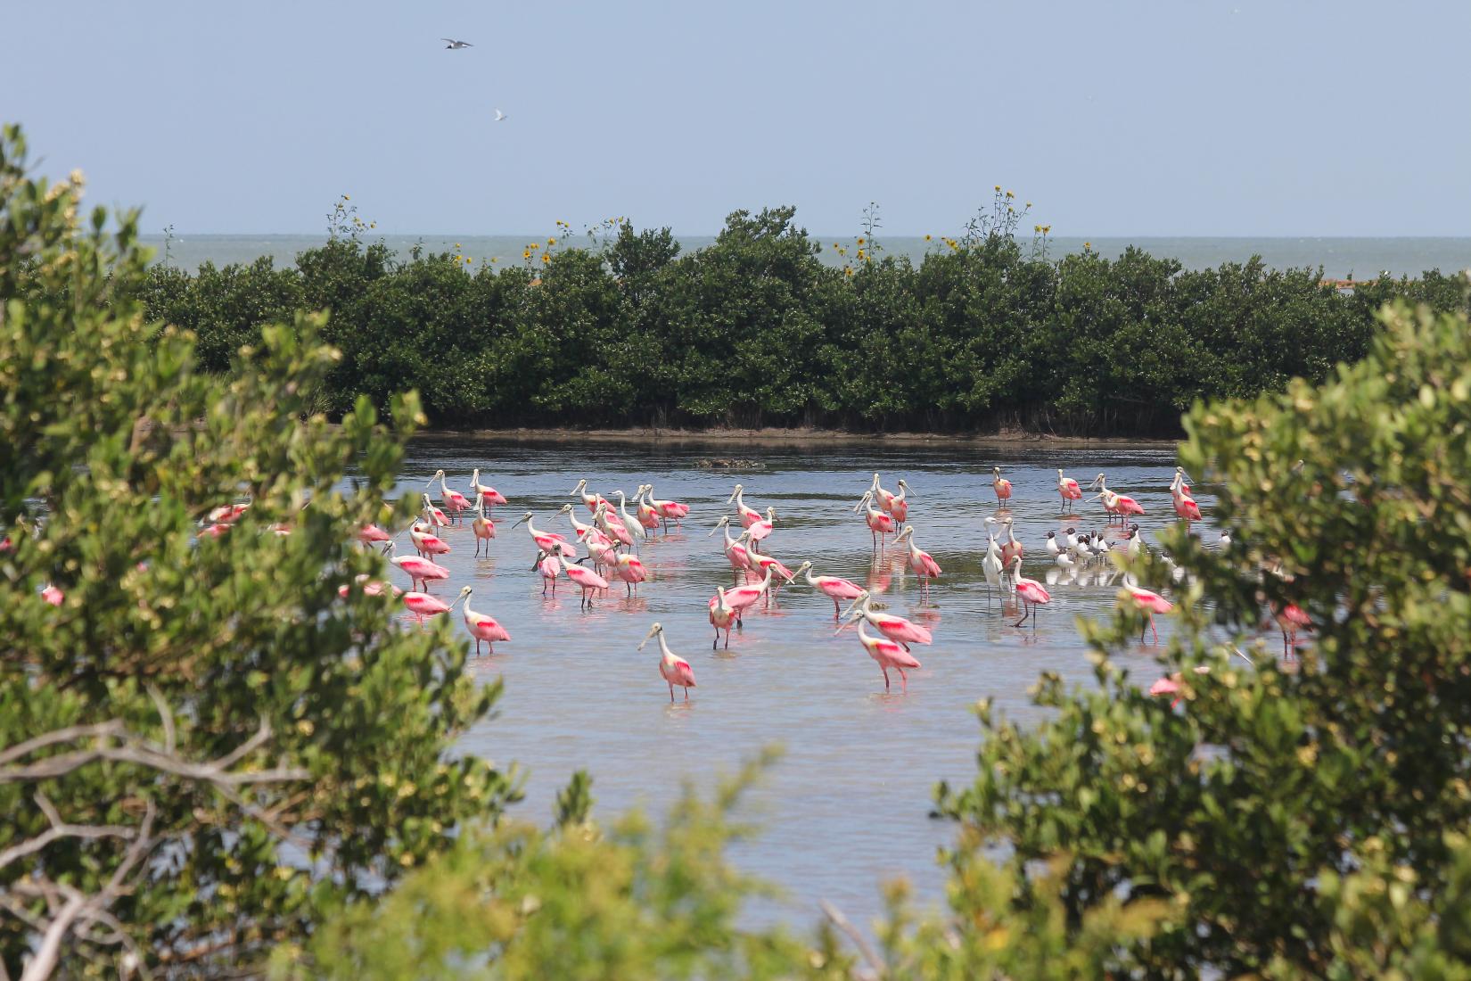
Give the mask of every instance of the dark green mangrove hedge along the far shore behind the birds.
[{"label": "dark green mangrove hedge along the far shore behind the birds", "polygon": [[387,410],[413,388],[435,425],[1171,435],[1197,399],[1322,381],[1362,357],[1390,299],[1464,306],[1437,272],[1343,296],[1318,271],[1255,259],[1053,262],[996,209],[918,265],[863,235],[840,249],[843,268],[819,260],[790,207],[736,212],[693,254],[622,221],[590,249],[550,237],[499,271],[457,252],[399,262],[338,215],[293,268],[153,266],[138,299],[193,331],[218,372],[262,324],[331,310],[325,337],[343,359],[319,394],[334,413],[357,396]]}]

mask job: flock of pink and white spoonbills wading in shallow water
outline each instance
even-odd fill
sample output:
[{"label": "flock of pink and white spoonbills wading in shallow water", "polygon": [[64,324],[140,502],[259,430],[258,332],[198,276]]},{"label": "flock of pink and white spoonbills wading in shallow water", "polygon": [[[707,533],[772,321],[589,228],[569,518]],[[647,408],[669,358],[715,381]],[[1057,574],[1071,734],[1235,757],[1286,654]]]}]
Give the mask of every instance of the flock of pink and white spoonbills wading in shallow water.
[{"label": "flock of pink and white spoonbills wading in shallow water", "polygon": [[[430,497],[430,490],[438,484],[438,504]],[[909,518],[909,485],[905,479],[896,482],[897,491],[884,488],[880,475],[853,506],[853,512],[861,512],[863,522],[872,535],[875,553],[883,554],[888,547],[903,549],[903,562],[915,574],[919,582],[921,597],[928,596],[930,587],[943,571],[934,557],[919,547],[915,528]],[[921,624],[915,624],[903,616],[884,612],[884,607],[874,602],[868,590],[836,575],[813,575],[812,562],[802,562],[794,569],[771,554],[768,541],[777,528],[777,512],[766,507],[761,512],[746,503],[744,487],[736,484],[734,491],[727,499],[734,513],[724,515],[715,524],[708,537],[724,532],[721,549],[736,574],[736,584],[730,588],[716,587],[715,596],[709,599],[709,622],[715,629],[712,649],[721,643],[721,632],[725,634],[725,646],[730,647],[731,628],[741,628],[741,618],[746,610],[756,603],[769,603],[771,596],[783,585],[790,585],[799,579],[813,590],[833,600],[833,619],[838,624],[838,632],[846,627],[858,625],[858,640],[872,657],[884,675],[884,690],[890,688],[890,671],[899,674],[900,688],[908,691],[909,671],[919,668],[919,660],[913,656],[911,644],[930,644],[931,631]],[[987,518],[987,525],[999,525],[1002,538],[994,529],[989,531],[989,544],[981,568],[989,587],[1000,588],[1015,594],[1022,610],[1015,627],[1021,627],[1028,619],[1036,625],[1037,610],[1052,602],[1047,588],[1037,579],[1021,574],[1021,562],[1025,546],[1016,540],[1011,510],[1008,507],[1012,497],[1012,484],[1002,477],[1000,468],[993,468],[991,490],[996,493],[999,509],[994,516]],[[1139,525],[1130,524],[1130,518],[1143,515],[1144,509],[1133,499],[1118,494],[1108,487],[1108,481],[1099,474],[1087,490],[1096,490],[1091,500],[1102,503],[1108,521],[1121,522],[1127,528],[1124,544],[1112,546],[1102,535],[1074,535],[1069,529],[1065,540],[1059,540],[1056,532],[1047,532],[1046,550],[1052,560],[1061,568],[1071,568],[1080,562],[1097,560],[1114,547],[1124,549],[1130,557],[1141,550]],[[460,588],[459,596],[452,602],[432,596],[430,582],[449,579],[450,571],[438,565],[434,557],[447,554],[450,544],[440,537],[443,528],[452,524],[469,522],[475,538],[475,554],[484,550],[488,553],[490,543],[496,538],[496,524],[488,510],[506,504],[506,497],[494,487],[480,482],[480,469],[471,475],[469,491],[472,497],[449,487],[444,471],[435,471],[434,477],[421,493],[422,510],[405,531],[412,543],[413,553],[397,554],[397,538],[378,525],[366,525],[359,531],[359,540],[369,544],[381,544],[390,562],[409,577],[410,588],[400,590],[388,582],[378,582],[360,577],[359,585],[369,596],[393,596],[402,600],[403,606],[422,622],[424,618],[450,613],[455,606],[463,603],[462,616],[471,637],[475,638],[475,653],[494,653],[494,644],[510,641],[510,632],[487,612],[471,606],[474,588]],[[1175,468],[1169,493],[1175,515],[1184,522],[1200,521],[1200,507],[1190,496],[1184,471]],[[1075,503],[1083,500],[1084,488],[1072,478],[1058,471],[1058,494],[1062,499],[1062,516],[1072,513]],[[558,515],[565,515],[571,524],[571,538],[562,532],[537,528],[535,516],[525,512],[512,528],[525,525],[531,541],[535,544],[535,562],[533,569],[541,577],[541,591],[556,591],[558,582],[566,578],[575,588],[581,590],[581,606],[590,607],[602,594],[606,596],[613,588],[613,582],[622,582],[628,596],[633,596],[638,585],[647,579],[644,566],[634,553],[635,543],[653,535],[658,531],[665,534],[669,524],[678,527],[688,515],[690,507],[680,502],[662,500],[655,496],[652,484],[643,484],[628,500],[622,491],[616,491],[616,506],[608,499],[587,488],[587,481],[578,481],[569,493],[578,497],[591,515],[591,521],[584,522],[577,516],[574,504],[565,504]],[[219,537],[229,531],[232,522],[238,521],[249,509],[249,503],[224,504],[216,507],[209,522],[200,529],[203,537]],[[633,506],[633,510],[630,510]],[[733,525],[738,524],[741,531],[731,535]],[[284,525],[272,528],[275,534],[290,534]],[[10,540],[0,541],[0,552],[9,549]],[[1228,534],[1222,532],[1219,546],[1230,547]],[[585,550],[585,554],[578,554]],[[591,568],[588,568],[591,565]],[[346,596],[347,585],[340,587]],[[1168,613],[1174,604],[1164,596],[1140,588],[1125,579],[1121,594],[1143,618],[1143,629],[1155,631],[1155,615]],[[65,602],[65,594],[56,585],[47,584],[41,591],[41,599],[53,606]],[[847,603],[847,607],[843,607]],[[1003,607],[1005,609],[1005,607]],[[1306,613],[1297,606],[1283,606],[1272,610],[1283,632],[1284,653],[1292,656],[1299,631],[1311,629],[1312,624]],[[872,628],[875,632],[869,632]],[[1140,640],[1143,640],[1143,629]],[[1158,641],[1158,631],[1155,631]],[[659,675],[668,684],[669,700],[674,690],[683,688],[688,700],[690,688],[696,687],[694,669],[690,662],[680,657],[663,637],[663,627],[653,624],[638,649],[643,650],[650,641],[659,644]],[[1244,657],[1244,654],[1243,654]],[[1180,690],[1180,677],[1161,678],[1150,688],[1150,694],[1169,696]]]}]

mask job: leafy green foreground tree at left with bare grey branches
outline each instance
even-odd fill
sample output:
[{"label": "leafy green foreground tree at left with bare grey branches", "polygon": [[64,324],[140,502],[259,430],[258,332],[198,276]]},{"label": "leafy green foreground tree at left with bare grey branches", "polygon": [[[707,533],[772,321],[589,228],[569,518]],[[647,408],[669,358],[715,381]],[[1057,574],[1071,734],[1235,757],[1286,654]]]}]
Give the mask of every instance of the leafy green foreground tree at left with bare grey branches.
[{"label": "leafy green foreground tree at left with bare grey branches", "polygon": [[463,644],[356,582],[382,575],[356,532],[402,518],[418,404],[391,431],[366,402],[307,415],[335,363],[315,318],[203,375],[127,299],[132,216],[82,231],[79,175],[32,179],[24,151],[6,129],[0,969],[249,969],[512,796],[446,757],[496,696]]}]

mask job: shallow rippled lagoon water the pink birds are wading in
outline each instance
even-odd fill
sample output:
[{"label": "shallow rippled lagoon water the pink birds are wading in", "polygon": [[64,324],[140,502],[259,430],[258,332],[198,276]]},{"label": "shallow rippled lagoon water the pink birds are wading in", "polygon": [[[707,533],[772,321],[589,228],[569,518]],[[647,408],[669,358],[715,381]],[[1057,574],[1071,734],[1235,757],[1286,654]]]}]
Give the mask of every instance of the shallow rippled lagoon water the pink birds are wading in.
[{"label": "shallow rippled lagoon water the pink birds are wading in", "polygon": [[[759,459],[765,469],[699,469],[702,456]],[[1080,502],[1078,521],[1059,518],[1059,466],[1080,482],[1108,474],[1109,487],[1147,510],[1146,537],[1172,516],[1174,453],[1155,447],[975,452],[416,440],[402,491],[422,490],[443,468],[450,487],[466,493],[471,468],[480,466],[481,481],[510,499],[496,509],[490,557],[474,556],[468,527],[446,529],[453,553],[440,562],[452,577],[431,587],[450,597],[460,585],[474,585],[477,610],[494,615],[513,638],[493,657],[471,662],[487,681],[505,677],[506,694],[499,715],[469,732],[463,749],[527,768],[527,800],[518,812],[544,822],[556,790],[575,769],[593,774],[605,819],[634,805],[660,813],[683,781],[708,788],[715,775],[780,743],[786,756],[753,794],[747,815],[762,834],[734,850],[743,869],[787,891],[778,909],[759,915],[806,925],[818,915],[816,900],[828,899],[863,922],[880,910],[880,881],[897,875],[908,877],[922,900],[938,903],[943,871],[936,850],[953,830],[928,812],[938,780],[964,784],[974,774],[980,729],[971,706],[993,697],[1008,715],[1034,719],[1027,688],[1037,672],[1090,682],[1075,619],[1100,615],[1118,591],[1116,581],[1100,582],[1100,574],[1075,582],[1064,578],[1050,587],[1052,604],[1036,628],[1012,627],[1016,612],[1008,606],[1002,615],[980,566],[983,522],[996,510],[993,465],[1015,485],[1011,510],[1027,547],[1024,572],[1037,579],[1059,572],[1043,549],[1049,529],[1105,528],[1097,503]],[[944,571],[928,602],[921,602],[899,552],[874,560],[869,531],[852,510],[875,471],[890,490],[897,490],[900,477],[911,485],[909,521],[918,544]],[[628,599],[615,582],[588,612],[578,609],[578,591],[565,579],[556,596],[541,594],[531,537],[524,525],[510,528],[533,510],[538,531],[560,531],[571,540],[566,518],[553,515],[575,502],[578,519],[588,521],[581,500],[568,494],[584,477],[608,497],[652,482],[658,497],[690,504],[681,529],[641,546],[649,581],[638,594]],[[747,504],[777,509],[768,554],[791,568],[811,559],[815,574],[868,584],[894,612],[934,631],[933,646],[915,647],[924,666],[911,672],[908,694],[899,693],[897,677],[894,690],[884,693],[883,675],[853,629],[834,637],[831,600],[805,584],[783,588],[769,607],[752,609],[728,652],[710,650],[706,602],[716,585],[731,584],[733,574],[721,535],[706,534],[721,515],[733,513],[725,499],[737,481]],[[1209,499],[1199,500],[1209,515]],[[457,610],[455,621],[463,629]],[[656,644],[637,650],[655,621],[694,668],[699,687],[688,704],[669,703]],[[1146,684],[1159,671],[1152,652],[1137,649],[1136,677]]]}]

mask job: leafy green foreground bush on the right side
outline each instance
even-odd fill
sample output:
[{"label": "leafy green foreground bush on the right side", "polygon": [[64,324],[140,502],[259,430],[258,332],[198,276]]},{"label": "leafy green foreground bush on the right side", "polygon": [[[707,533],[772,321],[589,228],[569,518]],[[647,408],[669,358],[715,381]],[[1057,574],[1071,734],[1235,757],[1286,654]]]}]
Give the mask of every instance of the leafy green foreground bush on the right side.
[{"label": "leafy green foreground bush on the right side", "polygon": [[[1039,860],[1061,860],[1069,922],[1164,903],[1121,950],[1131,974],[1468,977],[1468,328],[1381,318],[1370,356],[1321,388],[1186,418],[1181,462],[1237,535],[1167,538],[1192,582],[1162,656],[1178,707],[1124,668],[1139,619],[1121,607],[1089,631],[1097,688],[1043,675],[1055,712],[1033,729],[983,704],[980,775],[941,788],[956,869],[1005,844],[1014,909],[1036,902]],[[1272,621],[1293,606],[1312,640],[1278,660]],[[1259,628],[1247,666],[1239,637]]]}]

